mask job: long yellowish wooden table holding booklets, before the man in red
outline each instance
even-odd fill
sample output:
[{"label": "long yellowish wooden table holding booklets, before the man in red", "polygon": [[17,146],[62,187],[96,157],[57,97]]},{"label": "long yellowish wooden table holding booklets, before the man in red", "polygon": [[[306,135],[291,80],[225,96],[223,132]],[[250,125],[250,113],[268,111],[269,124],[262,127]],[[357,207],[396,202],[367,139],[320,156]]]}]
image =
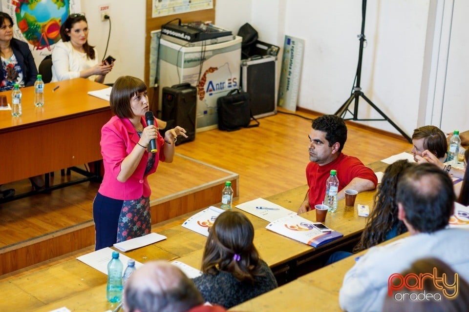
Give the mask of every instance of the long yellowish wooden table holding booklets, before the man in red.
[{"label": "long yellowish wooden table holding booklets, before the man in red", "polygon": [[[302,186],[266,199],[296,212],[306,191],[307,186]],[[360,193],[357,195],[356,204],[367,204],[372,207],[374,194],[375,191]],[[316,249],[268,231],[265,229],[268,221],[254,215],[246,215],[255,227],[254,243],[261,257],[273,268],[274,273],[281,274],[283,272],[290,278],[296,278],[298,267],[308,266],[319,254],[340,248],[350,239],[359,237],[366,220],[366,218],[357,215],[356,209],[346,208],[344,200],[339,201],[337,212],[327,215],[324,223],[343,233],[344,237]],[[302,216],[316,221],[314,211]],[[157,224],[153,227],[153,231],[158,232]],[[169,261],[177,259],[195,268],[200,268],[206,241],[205,236],[181,226],[159,233],[166,235],[168,239],[125,254],[143,263],[156,259]],[[12,308],[25,311],[33,309],[50,311],[63,306],[72,311],[112,309],[114,305],[106,302],[106,281],[105,274],[92,269],[79,260],[65,261],[50,268],[1,281],[0,293],[3,297],[12,299],[0,301],[0,311],[9,311]],[[321,293],[323,295],[320,295]],[[300,295],[298,290],[297,294]],[[326,293],[318,292],[318,296],[318,298],[325,299]],[[280,299],[277,298],[277,300]],[[290,303],[292,304],[293,301]]]}]

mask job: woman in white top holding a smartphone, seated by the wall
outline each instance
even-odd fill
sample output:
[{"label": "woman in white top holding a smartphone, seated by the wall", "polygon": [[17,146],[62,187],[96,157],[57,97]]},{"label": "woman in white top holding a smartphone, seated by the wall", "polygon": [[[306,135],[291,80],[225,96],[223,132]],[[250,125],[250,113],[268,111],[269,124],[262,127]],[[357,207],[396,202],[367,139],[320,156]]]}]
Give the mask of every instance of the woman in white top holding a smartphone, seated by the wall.
[{"label": "woman in white top holding a smartphone, seated by the wall", "polygon": [[61,40],[52,51],[52,82],[88,78],[103,83],[114,62],[102,62],[88,44],[88,23],[83,13],[71,14],[60,27]]}]

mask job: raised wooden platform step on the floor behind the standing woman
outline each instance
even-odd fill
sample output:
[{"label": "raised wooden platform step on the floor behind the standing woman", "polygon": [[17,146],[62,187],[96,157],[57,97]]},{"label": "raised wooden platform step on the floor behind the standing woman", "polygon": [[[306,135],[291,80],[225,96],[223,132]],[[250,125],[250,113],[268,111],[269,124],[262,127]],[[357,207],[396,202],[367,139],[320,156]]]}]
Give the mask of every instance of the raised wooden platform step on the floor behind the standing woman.
[{"label": "raised wooden platform step on the floor behind the standing woman", "polygon": [[[58,171],[54,179],[58,183],[75,175],[61,177]],[[149,176],[152,224],[219,203],[225,181],[232,181],[237,197],[238,179],[233,172],[176,154],[173,163],[161,163]],[[27,192],[28,183],[11,187]],[[0,275],[94,245],[98,188],[96,182],[84,182],[1,204]]]}]

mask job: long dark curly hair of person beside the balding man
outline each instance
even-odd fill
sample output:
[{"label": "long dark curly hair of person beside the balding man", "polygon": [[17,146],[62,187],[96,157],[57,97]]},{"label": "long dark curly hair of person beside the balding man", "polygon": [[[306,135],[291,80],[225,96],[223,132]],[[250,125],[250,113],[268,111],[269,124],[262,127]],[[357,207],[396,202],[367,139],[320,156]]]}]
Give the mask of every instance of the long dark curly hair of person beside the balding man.
[{"label": "long dark curly hair of person beside the balding man", "polygon": [[409,163],[406,159],[398,160],[384,171],[383,180],[374,197],[373,211],[360,241],[353,249],[354,253],[384,242],[386,235],[394,227],[397,227],[397,235],[407,232],[404,222],[397,218],[396,190],[399,177],[412,165],[414,163]]}]

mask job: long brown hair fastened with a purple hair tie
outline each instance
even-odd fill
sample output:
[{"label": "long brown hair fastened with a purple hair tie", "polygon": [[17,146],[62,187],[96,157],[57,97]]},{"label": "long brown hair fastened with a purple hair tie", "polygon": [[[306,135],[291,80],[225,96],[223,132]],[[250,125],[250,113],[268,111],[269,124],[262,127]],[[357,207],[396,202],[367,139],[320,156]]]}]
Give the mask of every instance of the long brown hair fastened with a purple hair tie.
[{"label": "long brown hair fastened with a purple hair tie", "polygon": [[253,244],[254,227],[240,212],[226,211],[210,229],[202,259],[202,272],[232,273],[240,282],[254,283],[260,273],[259,254]]}]

